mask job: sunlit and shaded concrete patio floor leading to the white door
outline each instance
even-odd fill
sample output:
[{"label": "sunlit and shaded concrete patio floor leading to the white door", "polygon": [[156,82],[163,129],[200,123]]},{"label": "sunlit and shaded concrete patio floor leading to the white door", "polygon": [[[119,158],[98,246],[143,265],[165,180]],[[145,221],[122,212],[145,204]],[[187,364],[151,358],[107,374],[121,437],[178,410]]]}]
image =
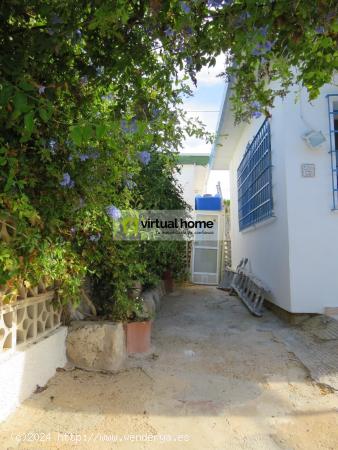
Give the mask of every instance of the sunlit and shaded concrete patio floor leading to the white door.
[{"label": "sunlit and shaded concrete patio floor leading to the white door", "polygon": [[149,355],[116,374],[58,371],[0,425],[0,448],[336,449],[337,392],[278,337],[293,330],[216,288],[181,288]]}]

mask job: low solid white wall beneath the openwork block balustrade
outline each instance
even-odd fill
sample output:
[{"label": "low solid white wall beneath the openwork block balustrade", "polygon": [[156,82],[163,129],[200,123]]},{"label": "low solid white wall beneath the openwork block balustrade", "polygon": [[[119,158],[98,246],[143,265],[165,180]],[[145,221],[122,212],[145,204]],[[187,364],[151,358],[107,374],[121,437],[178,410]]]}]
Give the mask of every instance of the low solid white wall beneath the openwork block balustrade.
[{"label": "low solid white wall beneath the openwork block balustrade", "polygon": [[36,386],[44,386],[64,367],[67,327],[60,327],[35,344],[0,354],[0,422],[28,398]]}]

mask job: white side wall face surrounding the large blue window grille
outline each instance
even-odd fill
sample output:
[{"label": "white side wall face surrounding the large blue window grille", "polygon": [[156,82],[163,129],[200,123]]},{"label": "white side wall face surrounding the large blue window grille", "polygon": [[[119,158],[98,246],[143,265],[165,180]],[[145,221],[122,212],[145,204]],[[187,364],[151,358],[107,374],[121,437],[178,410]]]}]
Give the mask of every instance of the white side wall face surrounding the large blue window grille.
[{"label": "white side wall face surrounding the large blue window grille", "polygon": [[282,109],[276,108],[271,120],[272,184],[276,217],[242,232],[239,231],[237,168],[247,143],[252,140],[262,123],[263,119],[257,119],[245,127],[230,163],[232,265],[235,268],[243,257],[248,258],[251,272],[271,290],[275,303],[290,310],[289,237],[284,160],[287,128],[283,121]]}]

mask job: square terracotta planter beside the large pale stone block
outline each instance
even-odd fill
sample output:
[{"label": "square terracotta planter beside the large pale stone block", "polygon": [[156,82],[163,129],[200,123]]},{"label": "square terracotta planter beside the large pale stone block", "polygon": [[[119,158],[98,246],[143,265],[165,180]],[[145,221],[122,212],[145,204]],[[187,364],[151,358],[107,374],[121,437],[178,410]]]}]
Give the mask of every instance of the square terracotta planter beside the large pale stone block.
[{"label": "square terracotta planter beside the large pale stone block", "polygon": [[145,353],[150,350],[151,320],[128,322],[124,325],[128,353]]}]

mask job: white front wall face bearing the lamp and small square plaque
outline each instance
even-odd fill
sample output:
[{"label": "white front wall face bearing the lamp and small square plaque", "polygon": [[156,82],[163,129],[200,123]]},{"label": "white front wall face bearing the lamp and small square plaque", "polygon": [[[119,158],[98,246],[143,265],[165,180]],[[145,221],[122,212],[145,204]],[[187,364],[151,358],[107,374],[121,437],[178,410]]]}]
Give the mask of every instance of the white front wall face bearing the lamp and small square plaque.
[{"label": "white front wall face bearing the lamp and small square plaque", "polygon": [[[326,98],[332,93],[338,94],[337,87],[326,85],[312,104],[304,90],[298,103],[293,95],[284,102],[285,147],[281,150],[287,165],[292,312],[323,313],[325,307],[338,307],[338,211],[331,210]],[[322,148],[310,149],[302,139],[311,129],[325,135]],[[304,163],[315,164],[313,178],[302,177]]]}]

